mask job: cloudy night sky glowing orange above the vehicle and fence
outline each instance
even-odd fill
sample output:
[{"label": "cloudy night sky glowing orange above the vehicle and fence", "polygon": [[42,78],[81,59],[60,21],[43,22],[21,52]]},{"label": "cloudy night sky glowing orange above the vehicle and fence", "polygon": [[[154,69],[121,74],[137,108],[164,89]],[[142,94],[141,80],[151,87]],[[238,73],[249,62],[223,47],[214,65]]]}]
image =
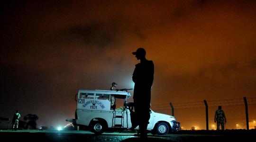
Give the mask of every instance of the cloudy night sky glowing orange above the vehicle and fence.
[{"label": "cloudy night sky glowing orange above the vehicle and fence", "polygon": [[256,97],[256,0],[3,1],[2,117],[66,124],[78,89],[133,88],[138,47],[155,64],[152,105]]}]

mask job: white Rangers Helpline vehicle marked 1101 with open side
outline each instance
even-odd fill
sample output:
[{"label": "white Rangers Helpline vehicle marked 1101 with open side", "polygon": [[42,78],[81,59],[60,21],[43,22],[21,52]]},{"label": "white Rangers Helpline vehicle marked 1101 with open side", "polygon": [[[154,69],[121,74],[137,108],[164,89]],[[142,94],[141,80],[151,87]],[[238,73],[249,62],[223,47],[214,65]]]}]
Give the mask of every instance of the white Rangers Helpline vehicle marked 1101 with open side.
[{"label": "white Rangers Helpline vehicle marked 1101 with open side", "polygon": [[[111,110],[110,97],[123,100],[123,107]],[[128,98],[130,93],[126,91],[110,90],[83,90],[80,89],[77,94],[77,108],[73,125],[89,126],[91,131],[101,134],[108,128],[130,129],[132,127],[131,115],[133,112],[128,107]],[[133,116],[133,115],[132,115]],[[137,128],[138,129],[138,126]],[[176,122],[174,116],[156,113],[151,110],[148,130],[152,133],[165,135],[169,132],[179,131],[180,123]]]}]

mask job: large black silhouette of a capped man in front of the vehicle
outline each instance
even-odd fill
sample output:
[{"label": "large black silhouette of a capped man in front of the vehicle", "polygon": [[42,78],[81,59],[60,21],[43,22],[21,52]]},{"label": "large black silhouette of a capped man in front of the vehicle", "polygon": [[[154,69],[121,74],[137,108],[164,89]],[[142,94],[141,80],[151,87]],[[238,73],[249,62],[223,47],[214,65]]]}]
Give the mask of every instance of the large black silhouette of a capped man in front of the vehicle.
[{"label": "large black silhouette of a capped man in front of the vehicle", "polygon": [[135,65],[132,75],[134,85],[134,109],[139,124],[140,137],[146,137],[147,124],[150,118],[150,99],[151,87],[154,80],[154,63],[146,60],[146,51],[144,48],[138,48],[136,52],[137,60],[140,63]]}]

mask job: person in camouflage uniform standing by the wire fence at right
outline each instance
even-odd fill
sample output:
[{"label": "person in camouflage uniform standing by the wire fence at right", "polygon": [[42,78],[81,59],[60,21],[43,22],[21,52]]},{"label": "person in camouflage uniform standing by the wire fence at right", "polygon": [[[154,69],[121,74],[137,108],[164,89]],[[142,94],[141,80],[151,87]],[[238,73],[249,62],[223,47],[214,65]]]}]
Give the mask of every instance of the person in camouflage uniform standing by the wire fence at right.
[{"label": "person in camouflage uniform standing by the wire fence at right", "polygon": [[227,119],[223,110],[221,110],[221,106],[216,110],[214,115],[214,122],[217,121],[217,130],[219,130],[219,125],[221,125],[221,130],[224,130],[224,124],[227,123]]}]

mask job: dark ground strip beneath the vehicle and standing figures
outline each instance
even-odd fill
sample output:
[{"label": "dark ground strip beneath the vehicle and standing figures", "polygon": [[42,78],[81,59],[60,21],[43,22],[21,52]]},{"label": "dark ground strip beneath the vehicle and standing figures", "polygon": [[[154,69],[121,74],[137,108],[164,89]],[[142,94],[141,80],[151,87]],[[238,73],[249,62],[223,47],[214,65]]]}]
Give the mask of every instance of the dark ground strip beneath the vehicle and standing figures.
[{"label": "dark ground strip beneath the vehicle and standing figures", "polygon": [[256,130],[183,130],[165,136],[149,133],[148,138],[144,140],[129,132],[110,131],[97,136],[89,131],[0,130],[0,138],[12,142],[255,142]]}]

